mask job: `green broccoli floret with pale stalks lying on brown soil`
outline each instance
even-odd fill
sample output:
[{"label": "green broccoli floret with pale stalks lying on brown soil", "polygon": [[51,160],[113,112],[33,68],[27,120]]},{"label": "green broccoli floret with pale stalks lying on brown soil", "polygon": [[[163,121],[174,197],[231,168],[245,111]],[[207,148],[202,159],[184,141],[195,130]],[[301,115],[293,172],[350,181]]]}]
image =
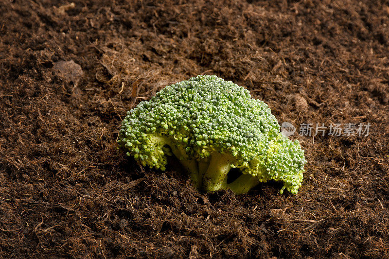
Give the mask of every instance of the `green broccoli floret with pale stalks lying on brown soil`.
[{"label": "green broccoli floret with pale stalks lying on brown soil", "polygon": [[[199,75],[166,86],[127,112],[118,148],[143,166],[165,170],[175,155],[199,190],[248,192],[260,182],[283,182],[297,193],[306,163],[298,140],[280,133],[267,104],[217,76]],[[241,175],[231,183],[227,174]]]}]

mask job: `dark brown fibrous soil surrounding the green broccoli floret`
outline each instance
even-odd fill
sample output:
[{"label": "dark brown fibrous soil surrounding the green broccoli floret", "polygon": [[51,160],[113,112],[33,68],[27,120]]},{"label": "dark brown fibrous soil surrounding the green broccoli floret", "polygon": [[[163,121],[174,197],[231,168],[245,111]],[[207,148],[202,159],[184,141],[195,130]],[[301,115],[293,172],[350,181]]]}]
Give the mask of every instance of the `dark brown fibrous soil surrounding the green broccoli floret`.
[{"label": "dark brown fibrous soil surrounding the green broccoli floret", "polygon": [[[0,4],[0,257],[389,258],[389,2]],[[195,190],[137,165],[125,112],[197,74],[245,86],[300,136],[297,195]]]}]

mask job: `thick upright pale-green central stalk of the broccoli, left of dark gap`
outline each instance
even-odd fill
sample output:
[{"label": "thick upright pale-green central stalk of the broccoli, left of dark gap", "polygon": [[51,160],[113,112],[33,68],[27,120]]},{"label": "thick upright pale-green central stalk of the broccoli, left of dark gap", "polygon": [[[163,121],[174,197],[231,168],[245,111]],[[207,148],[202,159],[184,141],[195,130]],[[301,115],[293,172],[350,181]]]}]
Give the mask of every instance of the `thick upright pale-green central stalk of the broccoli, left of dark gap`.
[{"label": "thick upright pale-green central stalk of the broccoli, left of dark gap", "polygon": [[203,176],[202,188],[206,192],[227,188],[227,174],[231,169],[230,157],[213,153],[207,171]]}]

